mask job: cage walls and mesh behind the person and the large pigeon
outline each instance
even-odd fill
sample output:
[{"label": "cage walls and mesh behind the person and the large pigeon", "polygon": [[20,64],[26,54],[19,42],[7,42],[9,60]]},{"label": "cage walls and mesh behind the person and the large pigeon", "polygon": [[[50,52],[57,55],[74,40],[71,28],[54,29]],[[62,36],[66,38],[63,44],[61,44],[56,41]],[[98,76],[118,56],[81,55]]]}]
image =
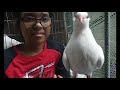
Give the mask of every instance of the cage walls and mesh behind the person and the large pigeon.
[{"label": "cage walls and mesh behind the person and the large pigeon", "polygon": [[[74,12],[52,12],[52,32],[49,39],[67,44],[73,30]],[[116,78],[116,12],[88,12],[91,18],[90,28],[103,48],[105,63],[100,70],[93,72],[93,78]],[[4,12],[4,33],[21,41],[15,29],[12,12]]]}]

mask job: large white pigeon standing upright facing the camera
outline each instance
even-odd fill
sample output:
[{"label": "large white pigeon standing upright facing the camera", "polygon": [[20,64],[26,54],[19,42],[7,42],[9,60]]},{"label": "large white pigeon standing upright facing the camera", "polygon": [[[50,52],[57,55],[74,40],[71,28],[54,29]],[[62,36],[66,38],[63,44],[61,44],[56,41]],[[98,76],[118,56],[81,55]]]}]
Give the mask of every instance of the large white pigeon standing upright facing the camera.
[{"label": "large white pigeon standing upright facing the camera", "polygon": [[74,20],[73,33],[63,52],[63,64],[71,77],[80,78],[83,74],[91,78],[92,72],[103,66],[104,53],[89,28],[88,13],[77,12]]}]

